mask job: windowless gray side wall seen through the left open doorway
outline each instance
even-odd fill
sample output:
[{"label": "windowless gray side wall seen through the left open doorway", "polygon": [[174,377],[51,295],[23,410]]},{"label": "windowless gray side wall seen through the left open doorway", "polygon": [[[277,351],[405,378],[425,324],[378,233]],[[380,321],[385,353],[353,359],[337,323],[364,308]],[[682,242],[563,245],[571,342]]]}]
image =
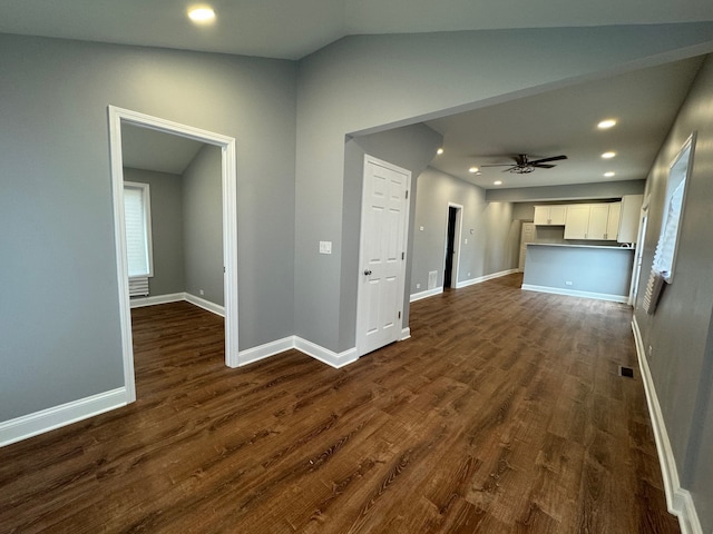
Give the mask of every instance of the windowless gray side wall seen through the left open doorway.
[{"label": "windowless gray side wall seen through the left open doorway", "polygon": [[183,172],[185,291],[223,306],[223,184],[219,147],[205,145]]}]

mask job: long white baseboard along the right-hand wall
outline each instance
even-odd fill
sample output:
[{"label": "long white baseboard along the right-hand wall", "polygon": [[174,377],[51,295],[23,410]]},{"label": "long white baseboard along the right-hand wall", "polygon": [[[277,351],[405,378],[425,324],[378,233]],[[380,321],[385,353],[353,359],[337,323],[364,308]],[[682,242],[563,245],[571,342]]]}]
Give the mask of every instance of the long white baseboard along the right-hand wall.
[{"label": "long white baseboard along the right-hand wall", "polygon": [[699,514],[695,510],[695,503],[691,492],[681,487],[678,478],[678,469],[676,459],[671,447],[671,439],[666,432],[654,380],[651,376],[648,360],[646,359],[646,350],[642,333],[636,322],[636,316],[632,319],[632,330],[636,342],[636,354],[638,356],[638,367],[644,383],[644,392],[646,393],[646,404],[648,405],[648,414],[651,416],[654,438],[656,441],[656,451],[658,452],[658,462],[661,464],[661,473],[664,479],[664,492],[666,494],[666,507],[668,512],[678,517],[682,534],[703,534]]}]

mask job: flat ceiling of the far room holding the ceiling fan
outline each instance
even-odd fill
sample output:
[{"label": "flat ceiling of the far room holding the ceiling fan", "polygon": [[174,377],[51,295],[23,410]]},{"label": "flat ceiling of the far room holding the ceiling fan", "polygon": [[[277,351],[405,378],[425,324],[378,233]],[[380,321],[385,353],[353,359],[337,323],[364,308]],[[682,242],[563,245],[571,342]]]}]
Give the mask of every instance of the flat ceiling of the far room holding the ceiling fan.
[{"label": "flat ceiling of the far room holding the ceiling fan", "polygon": [[[430,120],[443,135],[443,149],[431,166],[486,189],[645,179],[688,92],[703,58],[637,70],[615,78],[548,91],[498,106]],[[606,118],[609,130],[596,125]],[[616,151],[609,160],[600,156]],[[553,169],[517,175],[508,156],[529,159],[566,155]],[[480,175],[468,171],[478,167]],[[505,171],[504,171],[505,170]],[[614,171],[613,178],[605,178]],[[502,185],[495,186],[496,180]]]}]

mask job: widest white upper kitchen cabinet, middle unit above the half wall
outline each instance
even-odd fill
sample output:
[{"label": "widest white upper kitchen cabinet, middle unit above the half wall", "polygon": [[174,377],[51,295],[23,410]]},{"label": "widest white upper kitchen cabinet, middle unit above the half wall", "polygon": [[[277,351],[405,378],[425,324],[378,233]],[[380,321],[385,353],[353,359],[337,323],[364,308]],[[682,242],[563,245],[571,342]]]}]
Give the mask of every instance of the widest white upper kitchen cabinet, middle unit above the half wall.
[{"label": "widest white upper kitchen cabinet, middle unit above the half wall", "polygon": [[621,209],[621,202],[568,206],[565,239],[616,240]]}]

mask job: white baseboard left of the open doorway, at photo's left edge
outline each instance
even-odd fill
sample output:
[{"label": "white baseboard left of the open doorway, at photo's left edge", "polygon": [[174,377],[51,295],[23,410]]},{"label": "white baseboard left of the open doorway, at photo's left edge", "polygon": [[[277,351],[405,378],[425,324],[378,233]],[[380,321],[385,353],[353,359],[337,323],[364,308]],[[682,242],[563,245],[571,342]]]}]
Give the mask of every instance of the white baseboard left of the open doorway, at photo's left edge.
[{"label": "white baseboard left of the open doorway, at photo's left edge", "polygon": [[127,404],[126,387],[91,395],[0,423],[0,447],[71,425]]}]

